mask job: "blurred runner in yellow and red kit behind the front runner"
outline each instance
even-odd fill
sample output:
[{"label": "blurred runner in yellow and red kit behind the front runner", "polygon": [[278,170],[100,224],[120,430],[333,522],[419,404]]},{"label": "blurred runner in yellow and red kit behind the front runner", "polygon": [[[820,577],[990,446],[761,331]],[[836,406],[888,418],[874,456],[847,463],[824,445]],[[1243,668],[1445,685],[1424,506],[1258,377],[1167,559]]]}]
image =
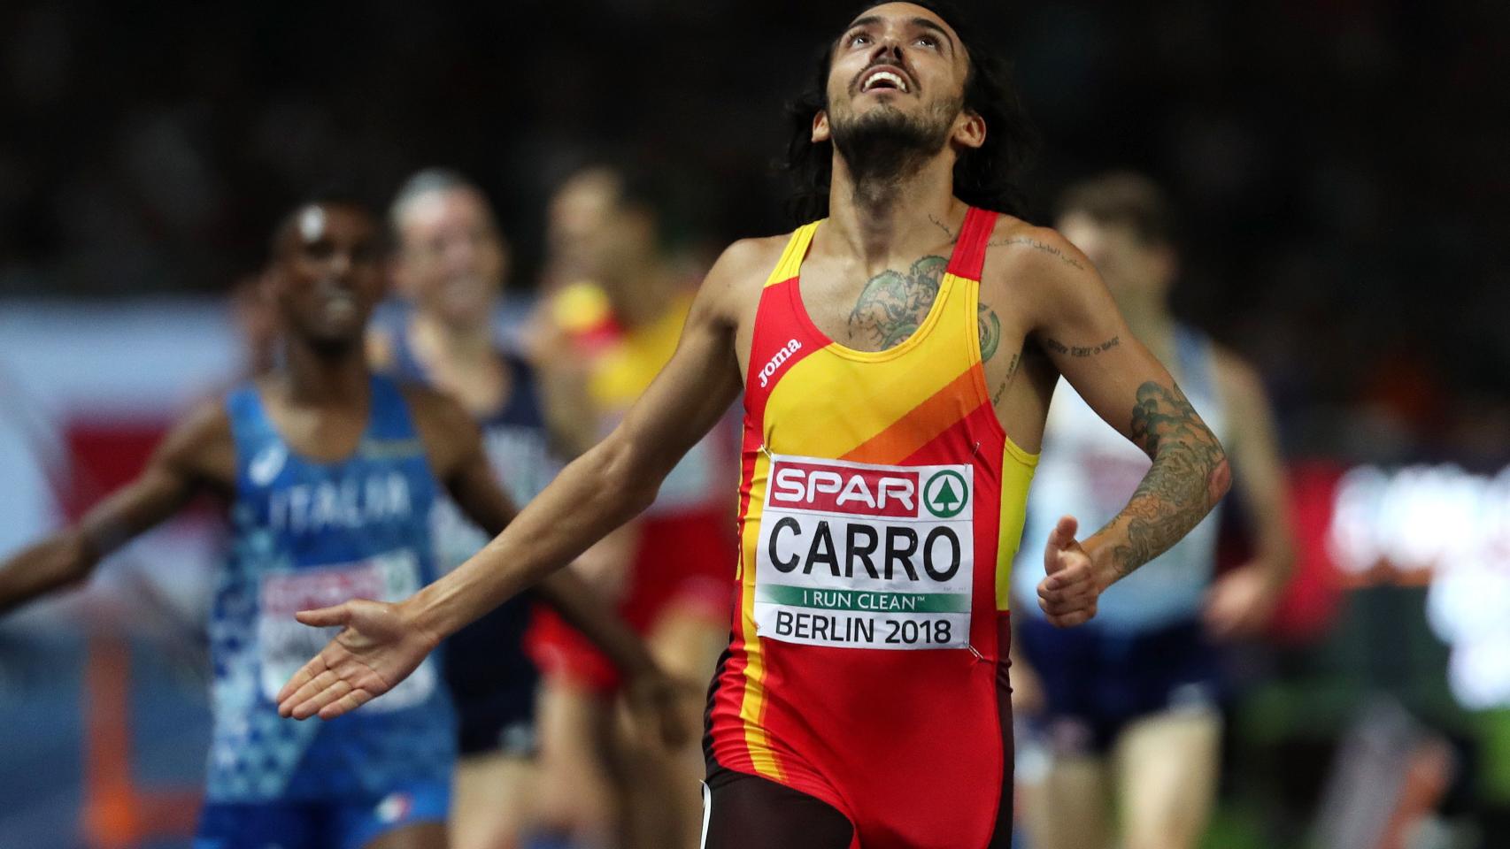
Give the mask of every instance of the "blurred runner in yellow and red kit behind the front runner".
[{"label": "blurred runner in yellow and red kit behind the front runner", "polygon": [[[550,274],[565,284],[548,306],[568,356],[550,368],[580,368],[586,407],[610,433],[676,350],[696,293],[661,247],[655,187],[643,175],[609,166],[574,173],[550,207]],[[601,300],[601,306],[595,306]],[[559,344],[559,342],[557,342]],[[563,382],[557,382],[560,386]],[[731,422],[732,424],[732,422]],[[621,612],[676,677],[705,682],[728,642],[728,558],[735,550],[728,499],[735,467],[734,430],[716,428],[661,481],[655,504],[621,528],[595,555],[593,585],[621,585]],[[610,569],[616,575],[606,575]],[[622,832],[625,846],[692,847],[702,817],[695,787],[696,752],[667,763],[615,722],[618,676],[580,635],[544,615],[532,654],[545,671],[542,737],[544,808],[566,834],[590,841]],[[701,731],[702,695],[689,728]]]}]

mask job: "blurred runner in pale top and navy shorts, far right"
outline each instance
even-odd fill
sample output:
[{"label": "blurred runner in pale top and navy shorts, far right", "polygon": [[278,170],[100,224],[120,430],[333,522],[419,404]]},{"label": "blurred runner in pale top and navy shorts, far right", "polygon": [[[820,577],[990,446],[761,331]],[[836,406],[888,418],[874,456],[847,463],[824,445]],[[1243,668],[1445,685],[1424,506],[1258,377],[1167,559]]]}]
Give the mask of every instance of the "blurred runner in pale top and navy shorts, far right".
[{"label": "blurred runner in pale top and navy shorts, far right", "polygon": [[[1250,366],[1170,314],[1178,256],[1169,201],[1152,181],[1107,173],[1077,184],[1062,199],[1057,226],[1095,262],[1132,335],[1169,365],[1222,437],[1256,547],[1250,562],[1216,578],[1213,514],[1102,594],[1086,627],[1059,630],[1031,609],[1019,617],[1025,664],[1016,704],[1040,731],[1036,743],[1048,759],[1043,778],[1024,783],[1024,819],[1034,849],[1099,849],[1111,844],[1114,799],[1117,846],[1193,847],[1216,796],[1222,737],[1211,638],[1255,635],[1294,559],[1273,415]],[[1062,385],[1024,543],[1042,544],[1065,513],[1110,519],[1148,464]],[[1018,596],[1031,597],[1042,578],[1037,558],[1022,556]]]}]

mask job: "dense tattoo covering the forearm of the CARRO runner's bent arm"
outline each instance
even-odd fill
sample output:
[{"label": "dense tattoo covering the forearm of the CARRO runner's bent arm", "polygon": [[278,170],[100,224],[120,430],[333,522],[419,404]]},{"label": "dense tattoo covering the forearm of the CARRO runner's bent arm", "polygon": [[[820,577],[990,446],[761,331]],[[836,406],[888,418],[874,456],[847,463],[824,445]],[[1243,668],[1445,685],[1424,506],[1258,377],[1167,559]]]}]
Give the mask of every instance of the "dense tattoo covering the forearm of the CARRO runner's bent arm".
[{"label": "dense tattoo covering the forearm of the CARRO runner's bent arm", "polygon": [[1105,528],[1125,532],[1125,540],[1111,549],[1111,565],[1119,576],[1178,543],[1216,507],[1229,484],[1222,443],[1178,385],[1166,388],[1151,380],[1139,386],[1129,430],[1154,466],[1126,508]]}]

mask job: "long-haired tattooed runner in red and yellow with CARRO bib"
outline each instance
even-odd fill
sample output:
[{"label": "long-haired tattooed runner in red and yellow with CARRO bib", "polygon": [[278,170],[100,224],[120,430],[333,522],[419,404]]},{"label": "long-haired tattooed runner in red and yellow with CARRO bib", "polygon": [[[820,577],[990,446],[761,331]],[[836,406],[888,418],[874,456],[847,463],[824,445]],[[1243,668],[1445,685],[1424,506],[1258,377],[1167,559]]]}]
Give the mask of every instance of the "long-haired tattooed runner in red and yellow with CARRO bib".
[{"label": "long-haired tattooed runner in red and yellow with CARRO bib", "polygon": [[1010,840],[1007,567],[1059,374],[1152,466],[1039,603],[1080,624],[1188,532],[1226,457],[1090,265],[1010,208],[1013,92],[954,12],[865,9],[824,53],[794,145],[823,220],[738,241],[624,422],[498,538],[346,630],[284,688],[293,716],[387,692],[439,636],[645,508],[744,389],[738,608],[710,698],[713,849]]}]

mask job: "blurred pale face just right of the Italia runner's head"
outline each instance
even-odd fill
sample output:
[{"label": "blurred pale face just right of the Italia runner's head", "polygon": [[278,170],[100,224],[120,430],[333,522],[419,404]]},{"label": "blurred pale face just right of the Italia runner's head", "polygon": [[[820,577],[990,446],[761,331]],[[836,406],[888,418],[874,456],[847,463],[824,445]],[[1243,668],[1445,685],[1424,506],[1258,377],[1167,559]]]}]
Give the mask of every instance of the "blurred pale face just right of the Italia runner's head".
[{"label": "blurred pale face just right of the Italia runner's head", "polygon": [[503,237],[486,202],[468,188],[415,198],[400,223],[394,268],[400,290],[451,326],[488,321],[503,291]]}]

